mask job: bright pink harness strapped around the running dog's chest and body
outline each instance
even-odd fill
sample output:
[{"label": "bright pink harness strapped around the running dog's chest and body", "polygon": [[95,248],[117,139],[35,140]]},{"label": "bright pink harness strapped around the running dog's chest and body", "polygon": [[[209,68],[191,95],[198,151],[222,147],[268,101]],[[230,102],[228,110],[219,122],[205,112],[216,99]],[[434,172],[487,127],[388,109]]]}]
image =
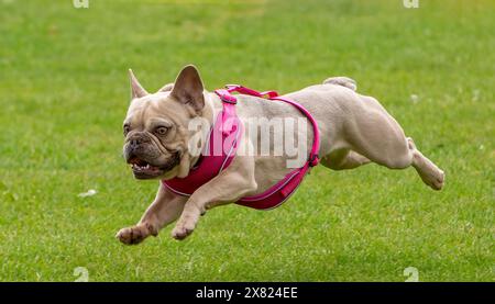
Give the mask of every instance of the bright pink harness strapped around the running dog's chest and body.
[{"label": "bright pink harness strapped around the running dog's chest and body", "polygon": [[318,165],[318,151],[320,149],[320,133],[318,124],[312,115],[299,103],[278,97],[275,91],[258,92],[238,85],[226,86],[227,89],[219,89],[215,92],[222,100],[222,112],[217,116],[213,126],[210,130],[208,143],[201,153],[198,164],[189,171],[185,178],[174,178],[162,180],[163,184],[170,191],[180,195],[191,195],[199,187],[204,185],[232,162],[238,149],[238,143],[243,133],[243,124],[235,113],[238,99],[232,92],[267,98],[268,100],[279,100],[296,106],[308,117],[312,124],[314,143],[306,164],[290,171],[279,182],[271,187],[261,194],[245,196],[235,203],[257,210],[270,210],[284,203],[299,187],[304,177],[311,167]]}]

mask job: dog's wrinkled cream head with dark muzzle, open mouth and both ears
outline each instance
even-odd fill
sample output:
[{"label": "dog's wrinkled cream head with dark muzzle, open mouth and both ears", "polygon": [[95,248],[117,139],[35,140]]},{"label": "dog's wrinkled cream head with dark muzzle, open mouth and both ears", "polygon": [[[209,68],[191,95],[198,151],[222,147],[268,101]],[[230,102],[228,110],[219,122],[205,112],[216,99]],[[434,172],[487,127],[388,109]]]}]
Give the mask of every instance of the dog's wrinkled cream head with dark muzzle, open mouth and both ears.
[{"label": "dog's wrinkled cream head with dark muzzle, open mouth and both ears", "polygon": [[197,69],[185,67],[174,86],[147,93],[130,70],[132,101],[123,122],[123,155],[136,179],[186,177],[188,122],[201,115],[204,87]]}]

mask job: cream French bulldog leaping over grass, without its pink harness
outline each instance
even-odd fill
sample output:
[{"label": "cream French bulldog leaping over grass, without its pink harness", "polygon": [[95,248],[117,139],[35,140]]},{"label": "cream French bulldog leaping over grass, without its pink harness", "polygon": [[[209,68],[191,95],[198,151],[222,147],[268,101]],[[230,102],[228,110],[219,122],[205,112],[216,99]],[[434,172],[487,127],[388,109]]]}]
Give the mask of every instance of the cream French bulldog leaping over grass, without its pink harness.
[{"label": "cream French bulldog leaping over grass, without its pink harness", "polygon": [[[148,93],[132,70],[130,81],[131,103],[123,122],[123,155],[134,177],[157,180],[187,177],[199,159],[190,151],[189,140],[198,134],[208,134],[190,130],[189,123],[198,117],[212,123],[222,110],[222,101],[205,90],[197,68],[191,65],[178,74],[175,82],[155,93]],[[354,80],[333,77],[283,97],[302,104],[318,122],[322,166],[333,170],[353,169],[370,162],[389,169],[411,166],[433,190],[443,187],[443,171],[405,136],[397,121],[376,99],[356,92]],[[241,121],[305,117],[290,104],[251,95],[239,95],[235,109]],[[307,130],[311,131],[309,122]],[[309,134],[306,138],[308,154],[312,137]],[[243,135],[239,146],[244,149],[240,150],[252,148],[258,140],[253,138],[250,134]],[[200,140],[199,145],[205,142]],[[271,149],[274,148],[275,145],[271,145]],[[139,244],[177,221],[172,236],[184,239],[194,232],[207,210],[263,193],[282,180],[293,170],[286,166],[286,160],[285,155],[266,156],[256,150],[237,155],[226,170],[190,196],[175,194],[160,182],[156,198],[141,221],[118,232],[117,238],[123,244]]]}]

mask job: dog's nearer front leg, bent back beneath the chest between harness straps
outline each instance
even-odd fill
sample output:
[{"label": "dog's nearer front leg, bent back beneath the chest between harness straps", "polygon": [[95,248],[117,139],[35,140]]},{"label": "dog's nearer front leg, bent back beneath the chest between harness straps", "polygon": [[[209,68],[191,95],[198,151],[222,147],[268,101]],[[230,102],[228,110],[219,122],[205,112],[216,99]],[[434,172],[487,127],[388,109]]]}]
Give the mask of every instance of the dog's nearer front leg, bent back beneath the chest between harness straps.
[{"label": "dog's nearer front leg, bent back beneath the chest between harness straps", "polygon": [[235,168],[229,168],[228,170],[190,195],[180,218],[172,230],[172,237],[179,240],[186,238],[195,229],[199,216],[205,214],[207,210],[235,202],[246,193],[256,190],[257,185],[253,177],[254,170],[238,171]]}]

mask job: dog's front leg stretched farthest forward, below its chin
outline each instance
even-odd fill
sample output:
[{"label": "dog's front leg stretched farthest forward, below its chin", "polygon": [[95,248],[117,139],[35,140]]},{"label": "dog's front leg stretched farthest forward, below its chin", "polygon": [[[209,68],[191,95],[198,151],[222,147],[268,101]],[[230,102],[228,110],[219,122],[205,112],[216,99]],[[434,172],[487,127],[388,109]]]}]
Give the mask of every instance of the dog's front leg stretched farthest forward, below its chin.
[{"label": "dog's front leg stretched farthest forward, below its chin", "polygon": [[117,238],[123,244],[135,245],[150,235],[158,235],[160,229],[180,216],[186,201],[186,196],[177,195],[160,183],[156,198],[147,207],[141,221],[132,227],[120,229],[117,233]]}]

